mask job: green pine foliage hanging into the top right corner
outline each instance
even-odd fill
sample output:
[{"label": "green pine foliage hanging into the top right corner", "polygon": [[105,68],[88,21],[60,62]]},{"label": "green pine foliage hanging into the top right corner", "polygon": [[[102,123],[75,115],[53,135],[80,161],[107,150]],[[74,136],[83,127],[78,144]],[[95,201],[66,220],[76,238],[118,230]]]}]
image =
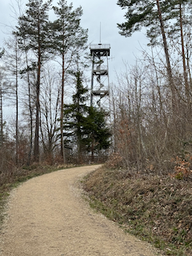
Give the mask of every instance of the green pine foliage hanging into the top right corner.
[{"label": "green pine foliage hanging into the top right corner", "polygon": [[[175,19],[179,17],[178,6],[190,5],[191,1],[160,0],[158,3],[161,8],[164,27],[168,28],[170,24],[174,24]],[[150,38],[150,45],[156,45],[161,42],[161,40],[158,40],[158,37],[161,35],[161,28],[157,1],[118,0],[118,6],[126,10],[126,22],[122,22],[122,24],[118,23],[119,34],[130,37],[134,32],[142,30],[142,27],[146,27],[146,35]]]}]

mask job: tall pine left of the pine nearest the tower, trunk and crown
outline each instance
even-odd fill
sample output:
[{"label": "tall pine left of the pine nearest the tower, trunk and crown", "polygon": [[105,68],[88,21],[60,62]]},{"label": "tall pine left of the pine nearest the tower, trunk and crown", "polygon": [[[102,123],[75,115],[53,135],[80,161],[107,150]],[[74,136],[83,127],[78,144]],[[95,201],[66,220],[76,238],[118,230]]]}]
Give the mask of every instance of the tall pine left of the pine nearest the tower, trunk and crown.
[{"label": "tall pine left of the pine nearest the tower, trunk and crown", "polygon": [[39,161],[39,111],[40,111],[40,85],[42,65],[49,58],[50,50],[50,25],[48,11],[52,0],[43,3],[43,0],[29,0],[26,4],[26,13],[18,18],[16,32],[18,46],[23,51],[31,51],[34,54],[34,62],[31,66],[36,72],[36,118],[34,136],[34,160]]}]

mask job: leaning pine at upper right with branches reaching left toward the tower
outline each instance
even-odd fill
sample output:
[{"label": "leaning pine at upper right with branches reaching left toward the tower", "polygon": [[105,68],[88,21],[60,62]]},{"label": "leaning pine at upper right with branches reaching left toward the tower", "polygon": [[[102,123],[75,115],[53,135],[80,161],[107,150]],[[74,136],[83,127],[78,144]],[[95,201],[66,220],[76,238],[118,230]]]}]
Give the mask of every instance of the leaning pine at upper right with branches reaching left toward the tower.
[{"label": "leaning pine at upper right with branches reaching left toward the tower", "polygon": [[[122,9],[126,9],[126,22],[118,24],[120,34],[130,37],[135,31],[141,30],[142,27],[147,28],[147,36],[150,38],[150,42],[154,43],[154,38],[157,38],[158,34],[162,34],[162,45],[164,47],[166,55],[166,70],[170,85],[170,91],[172,95],[172,111],[175,111],[175,87],[174,79],[170,66],[170,54],[166,39],[166,10],[169,8],[170,3],[168,1],[161,0],[118,0],[118,5]],[[157,33],[157,31],[159,33]]]}]

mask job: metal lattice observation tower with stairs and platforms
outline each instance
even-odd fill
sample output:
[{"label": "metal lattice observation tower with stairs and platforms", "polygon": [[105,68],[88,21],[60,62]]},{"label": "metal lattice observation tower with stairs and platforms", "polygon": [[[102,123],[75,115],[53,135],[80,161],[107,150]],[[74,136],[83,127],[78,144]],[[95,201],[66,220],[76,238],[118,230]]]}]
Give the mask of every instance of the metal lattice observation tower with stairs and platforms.
[{"label": "metal lattice observation tower with stairs and platforms", "polygon": [[90,106],[94,105],[94,99],[101,106],[102,98],[109,96],[109,66],[110,44],[90,45],[92,56]]}]

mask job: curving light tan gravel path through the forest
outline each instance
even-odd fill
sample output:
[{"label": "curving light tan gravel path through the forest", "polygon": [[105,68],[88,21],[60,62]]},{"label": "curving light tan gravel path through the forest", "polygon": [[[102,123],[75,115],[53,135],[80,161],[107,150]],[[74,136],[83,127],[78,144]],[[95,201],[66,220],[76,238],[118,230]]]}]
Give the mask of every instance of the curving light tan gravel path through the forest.
[{"label": "curving light tan gravel path through the forest", "polygon": [[59,170],[13,190],[0,240],[2,256],[154,256],[154,250],[94,214],[75,181],[98,166]]}]

